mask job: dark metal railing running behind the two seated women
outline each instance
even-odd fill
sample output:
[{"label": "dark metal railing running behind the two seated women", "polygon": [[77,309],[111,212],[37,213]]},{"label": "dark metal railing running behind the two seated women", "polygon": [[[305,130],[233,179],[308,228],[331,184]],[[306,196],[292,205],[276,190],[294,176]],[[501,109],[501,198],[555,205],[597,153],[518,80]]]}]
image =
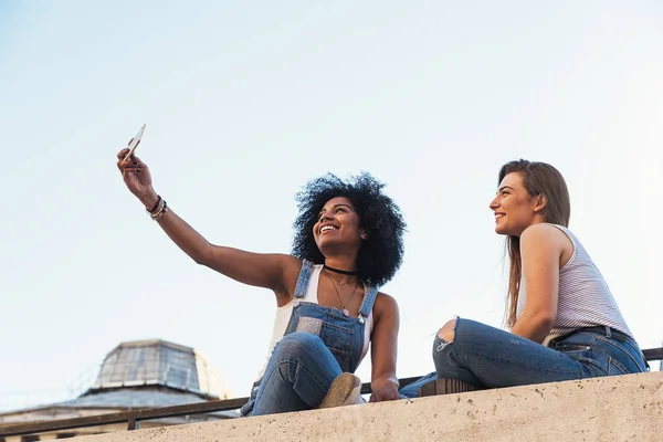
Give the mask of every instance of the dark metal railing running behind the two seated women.
[{"label": "dark metal railing running behind the two seated women", "polygon": [[[663,360],[663,347],[642,350],[648,361]],[[420,377],[399,379],[400,388],[412,383]],[[371,392],[370,383],[361,386],[361,394]],[[71,430],[86,427],[107,425],[114,423],[127,423],[127,430],[139,428],[140,421],[164,418],[177,418],[189,414],[211,413],[217,411],[231,411],[240,409],[249,398],[214,400],[200,403],[188,403],[185,406],[148,408],[117,413],[90,415],[85,418],[61,419],[54,421],[41,421],[30,423],[0,424],[0,438],[9,435],[25,435],[61,430]]]}]

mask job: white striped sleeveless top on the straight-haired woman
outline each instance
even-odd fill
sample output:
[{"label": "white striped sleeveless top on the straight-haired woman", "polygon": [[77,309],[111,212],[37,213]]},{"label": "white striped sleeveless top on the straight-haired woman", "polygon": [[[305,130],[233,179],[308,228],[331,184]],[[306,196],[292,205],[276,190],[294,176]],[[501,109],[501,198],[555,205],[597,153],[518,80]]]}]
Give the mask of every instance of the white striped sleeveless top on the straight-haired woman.
[{"label": "white striped sleeveless top on the straight-haired woman", "polygon": [[[557,317],[545,343],[583,327],[609,326],[633,337],[610,288],[580,241],[565,227],[561,230],[573,244],[573,254],[559,270]],[[520,281],[516,317],[525,311],[527,287]]]}]

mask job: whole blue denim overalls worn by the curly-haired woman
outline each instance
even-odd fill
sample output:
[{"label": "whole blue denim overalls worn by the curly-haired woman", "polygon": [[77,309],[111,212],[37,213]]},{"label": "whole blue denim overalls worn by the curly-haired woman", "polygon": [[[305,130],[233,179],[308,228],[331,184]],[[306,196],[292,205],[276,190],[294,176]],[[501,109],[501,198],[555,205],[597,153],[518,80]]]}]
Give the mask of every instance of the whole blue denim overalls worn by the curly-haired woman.
[{"label": "whole blue denim overalls worn by the curly-haired woman", "polygon": [[337,308],[304,301],[314,270],[312,262],[302,263],[285,335],[274,347],[262,379],[253,385],[242,415],[317,408],[334,379],[344,371],[355,372],[359,365],[366,318],[378,290],[369,285],[358,317],[346,317]]}]

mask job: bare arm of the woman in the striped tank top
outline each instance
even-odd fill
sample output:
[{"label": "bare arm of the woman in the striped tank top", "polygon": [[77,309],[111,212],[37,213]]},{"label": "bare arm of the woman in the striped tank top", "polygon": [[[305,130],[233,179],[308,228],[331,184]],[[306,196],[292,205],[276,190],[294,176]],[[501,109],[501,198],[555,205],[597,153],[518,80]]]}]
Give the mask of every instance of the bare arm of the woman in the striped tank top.
[{"label": "bare arm of the woman in the striped tank top", "polygon": [[535,224],[520,235],[520,255],[527,303],[512,332],[543,343],[557,316],[559,262],[566,243],[559,229]]}]

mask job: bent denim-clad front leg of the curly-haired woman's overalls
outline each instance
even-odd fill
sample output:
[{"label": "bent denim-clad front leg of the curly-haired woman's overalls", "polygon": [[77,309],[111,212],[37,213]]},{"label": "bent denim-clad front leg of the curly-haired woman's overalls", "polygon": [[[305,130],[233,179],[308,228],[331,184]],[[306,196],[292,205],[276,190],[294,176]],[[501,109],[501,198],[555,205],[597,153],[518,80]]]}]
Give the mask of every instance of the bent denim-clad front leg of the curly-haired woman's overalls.
[{"label": "bent denim-clad front leg of the curly-haired woman's overalls", "polygon": [[340,373],[340,366],[318,336],[291,333],[274,348],[251,414],[317,408]]}]

